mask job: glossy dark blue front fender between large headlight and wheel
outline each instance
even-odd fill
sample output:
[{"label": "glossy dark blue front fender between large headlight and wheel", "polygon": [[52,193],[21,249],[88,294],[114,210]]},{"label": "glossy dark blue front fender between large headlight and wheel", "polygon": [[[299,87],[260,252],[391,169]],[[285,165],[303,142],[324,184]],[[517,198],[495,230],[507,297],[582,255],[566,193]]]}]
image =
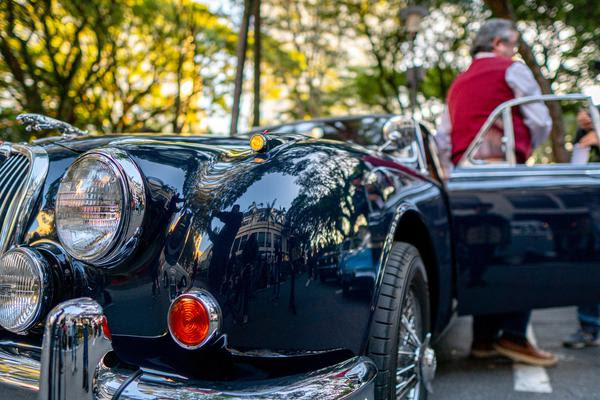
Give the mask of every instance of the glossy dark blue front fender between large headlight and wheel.
[{"label": "glossy dark blue front fender between large headlight and wheel", "polygon": [[[140,245],[145,251],[127,269],[135,279],[107,286],[114,304],[135,293],[131,307],[143,310],[126,313],[103,303],[114,337],[159,340],[167,334],[166,318],[148,321],[146,315],[166,315],[174,297],[203,288],[219,301],[232,350],[361,352],[394,214],[400,202],[409,202],[443,215],[439,189],[407,177],[397,164],[377,166],[378,159],[362,153],[350,158],[351,146],[305,143],[281,146],[262,163],[235,146],[170,145],[157,152],[132,143],[130,153],[152,187],[151,229],[165,236]],[[413,187],[414,195],[398,194]],[[447,232],[447,220],[440,224],[446,225],[432,231]],[[373,273],[344,295],[337,279],[319,281],[316,265],[344,240],[359,237],[368,238],[371,256],[361,263]],[[338,315],[344,318],[332,326]],[[148,360],[121,343],[115,346],[124,360]],[[185,358],[164,357],[155,361]]]}]

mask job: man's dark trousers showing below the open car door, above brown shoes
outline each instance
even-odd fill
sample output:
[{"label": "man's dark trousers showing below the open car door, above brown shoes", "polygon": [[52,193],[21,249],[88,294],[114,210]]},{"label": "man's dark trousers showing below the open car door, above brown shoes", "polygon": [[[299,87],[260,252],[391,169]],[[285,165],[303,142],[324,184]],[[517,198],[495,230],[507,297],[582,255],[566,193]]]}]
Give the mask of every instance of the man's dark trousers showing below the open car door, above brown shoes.
[{"label": "man's dark trousers showing below the open car door, above brown shoes", "polygon": [[491,342],[502,335],[513,340],[524,340],[531,311],[477,315],[473,317],[473,341]]}]

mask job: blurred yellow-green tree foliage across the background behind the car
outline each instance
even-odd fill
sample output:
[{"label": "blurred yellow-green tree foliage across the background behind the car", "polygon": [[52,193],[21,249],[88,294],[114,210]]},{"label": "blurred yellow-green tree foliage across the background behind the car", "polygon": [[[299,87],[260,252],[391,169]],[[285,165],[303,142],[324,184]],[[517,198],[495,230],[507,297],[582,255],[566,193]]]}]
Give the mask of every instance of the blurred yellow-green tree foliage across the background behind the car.
[{"label": "blurred yellow-green tree foliage across the background behind the car", "polygon": [[[414,2],[262,0],[261,122],[407,113],[407,83],[415,66],[422,78],[418,115],[433,122],[452,80],[470,63],[470,39],[481,21],[492,9],[508,6],[551,88],[579,91],[598,82],[591,67],[600,59],[596,3],[420,2],[429,15],[411,46],[400,14]],[[0,2],[3,138],[28,138],[14,122],[20,112],[44,113],[92,132],[186,134],[205,131],[209,117],[226,120],[241,5],[234,0],[219,6],[207,0]],[[253,37],[249,40],[251,49]],[[244,76],[249,93],[251,74]]]}]

